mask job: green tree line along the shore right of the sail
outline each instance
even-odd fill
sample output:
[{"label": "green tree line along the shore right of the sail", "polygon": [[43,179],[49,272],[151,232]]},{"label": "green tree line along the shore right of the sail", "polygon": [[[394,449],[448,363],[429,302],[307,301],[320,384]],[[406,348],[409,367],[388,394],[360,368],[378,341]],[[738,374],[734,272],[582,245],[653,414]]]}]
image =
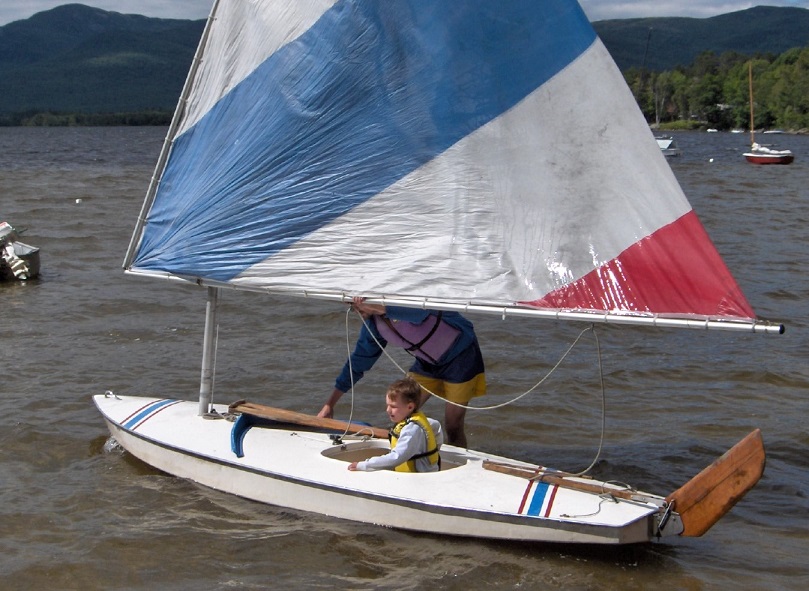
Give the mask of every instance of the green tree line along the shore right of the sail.
[{"label": "green tree line along the shore right of the sail", "polygon": [[752,64],[754,129],[809,131],[809,47],[781,55],[704,52],[688,67],[624,74],[646,120],[661,129],[750,128],[748,64]]}]

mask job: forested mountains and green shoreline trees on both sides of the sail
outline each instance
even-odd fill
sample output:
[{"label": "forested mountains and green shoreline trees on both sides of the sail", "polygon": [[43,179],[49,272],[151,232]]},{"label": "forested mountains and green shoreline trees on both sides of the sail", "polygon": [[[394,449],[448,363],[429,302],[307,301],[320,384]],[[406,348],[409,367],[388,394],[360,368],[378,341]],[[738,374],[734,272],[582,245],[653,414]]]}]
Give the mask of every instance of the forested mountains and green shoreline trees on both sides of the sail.
[{"label": "forested mountains and green shoreline trees on both sides of the sail", "polygon": [[[0,27],[0,125],[166,124],[204,21],[67,4]],[[809,10],[594,23],[650,123],[809,128]]]}]

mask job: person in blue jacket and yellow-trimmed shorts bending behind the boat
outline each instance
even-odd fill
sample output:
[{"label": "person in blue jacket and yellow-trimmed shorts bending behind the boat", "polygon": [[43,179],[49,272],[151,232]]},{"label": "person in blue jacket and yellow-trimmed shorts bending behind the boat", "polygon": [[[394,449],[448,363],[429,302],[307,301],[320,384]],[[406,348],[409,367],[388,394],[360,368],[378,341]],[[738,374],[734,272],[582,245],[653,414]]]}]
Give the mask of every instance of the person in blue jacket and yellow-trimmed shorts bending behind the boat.
[{"label": "person in blue jacket and yellow-trimmed shorts bending behind the boat", "polygon": [[425,390],[421,404],[430,394],[447,401],[447,440],[466,447],[465,407],[472,398],[486,393],[483,355],[472,323],[457,312],[368,304],[364,298],[354,298],[352,306],[365,322],[350,364],[346,361],[318,416],[333,417],[340,397],[373,367],[382,348],[390,343],[414,357],[408,375]]}]

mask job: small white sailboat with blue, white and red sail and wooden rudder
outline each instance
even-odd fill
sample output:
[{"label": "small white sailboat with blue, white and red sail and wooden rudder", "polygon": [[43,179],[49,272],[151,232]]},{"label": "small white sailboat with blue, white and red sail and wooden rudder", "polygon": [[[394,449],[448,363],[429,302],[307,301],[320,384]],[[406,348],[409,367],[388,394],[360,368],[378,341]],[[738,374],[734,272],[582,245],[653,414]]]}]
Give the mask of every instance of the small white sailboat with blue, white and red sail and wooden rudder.
[{"label": "small white sailboat with blue, white and red sail and wooden rudder", "polygon": [[452,445],[439,472],[355,473],[384,428],[213,402],[225,289],[783,331],[755,317],[574,0],[216,1],[124,269],[205,290],[199,398],[94,402],[129,453],[213,489],[439,535],[629,544],[702,535],[763,473],[758,430],[663,495]]}]

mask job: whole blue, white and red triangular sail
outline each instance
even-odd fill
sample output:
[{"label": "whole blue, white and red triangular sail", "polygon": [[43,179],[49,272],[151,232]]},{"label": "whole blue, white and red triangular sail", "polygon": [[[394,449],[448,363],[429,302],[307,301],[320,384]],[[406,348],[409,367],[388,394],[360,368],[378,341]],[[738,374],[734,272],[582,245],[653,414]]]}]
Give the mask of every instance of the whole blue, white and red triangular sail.
[{"label": "whole blue, white and red triangular sail", "polygon": [[754,317],[575,1],[228,0],[200,51],[132,272]]}]

